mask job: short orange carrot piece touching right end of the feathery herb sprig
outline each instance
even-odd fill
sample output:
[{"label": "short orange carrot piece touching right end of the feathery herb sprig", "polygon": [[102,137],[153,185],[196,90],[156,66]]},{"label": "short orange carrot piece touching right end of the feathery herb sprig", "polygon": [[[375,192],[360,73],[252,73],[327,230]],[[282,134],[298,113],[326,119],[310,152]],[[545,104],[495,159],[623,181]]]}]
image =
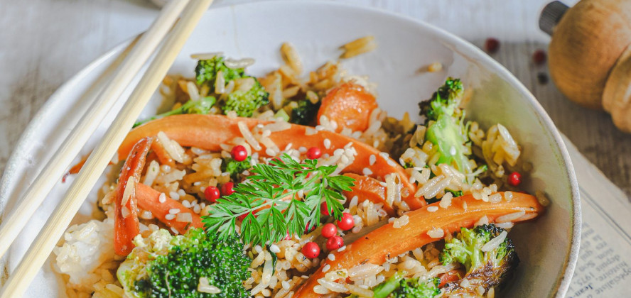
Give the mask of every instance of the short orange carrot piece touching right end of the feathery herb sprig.
[{"label": "short orange carrot piece touching right end of the feathery herb sprig", "polygon": [[386,202],[386,187],[384,187],[379,180],[371,177],[357,175],[353,173],[346,173],[345,176],[355,179],[355,186],[350,187],[350,192],[342,192],[347,199],[351,199],[357,196],[357,202],[361,203],[365,200],[373,202],[374,204],[384,204],[384,210],[389,216],[394,216],[394,209]]}]

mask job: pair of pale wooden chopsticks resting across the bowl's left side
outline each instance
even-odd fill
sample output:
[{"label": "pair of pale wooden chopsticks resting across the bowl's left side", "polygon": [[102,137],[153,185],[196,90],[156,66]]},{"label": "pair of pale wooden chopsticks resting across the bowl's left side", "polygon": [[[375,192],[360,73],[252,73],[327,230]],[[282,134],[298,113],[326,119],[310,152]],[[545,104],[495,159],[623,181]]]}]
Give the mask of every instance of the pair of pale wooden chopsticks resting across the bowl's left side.
[{"label": "pair of pale wooden chopsticks resting across the bowl's left side", "polygon": [[[72,130],[63,145],[48,162],[48,165],[38,175],[35,182],[31,184],[32,187],[21,198],[21,203],[4,220],[4,224],[0,227],[0,255],[6,253],[18,233],[26,225],[28,219],[33,216],[50,189],[60,180],[82,146],[85,145],[109,109],[114,105],[116,99],[122,95],[131,79],[139,73],[145,62],[162,44],[161,48],[157,50],[155,58],[150,62],[146,74],[108,128],[101,143],[87,158],[85,165],[83,165],[75,181],[72,182],[62,202],[33,241],[31,248],[28,249],[16,270],[11,273],[1,293],[1,298],[21,297],[26,287],[31,284],[33,277],[45,263],[50,252],[53,251],[65,228],[70,224],[109,161],[112,160],[112,156],[117,152],[134,121],[151,99],[151,95],[158,88],[184,43],[193,33],[193,29],[211,3],[212,0],[173,0],[164,7],[149,31],[144,33],[136,47],[126,57],[112,82],[100,94],[97,101],[90,106],[87,113],[82,116],[75,129]],[[169,30],[171,33],[162,43]]]}]

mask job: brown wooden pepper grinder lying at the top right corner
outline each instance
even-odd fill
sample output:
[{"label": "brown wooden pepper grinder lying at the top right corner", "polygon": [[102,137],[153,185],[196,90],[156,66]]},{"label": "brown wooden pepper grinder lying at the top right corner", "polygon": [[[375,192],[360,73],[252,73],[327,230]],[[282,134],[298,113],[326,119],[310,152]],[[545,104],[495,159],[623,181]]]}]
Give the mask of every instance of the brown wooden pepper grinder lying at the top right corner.
[{"label": "brown wooden pepper grinder lying at the top right corner", "polygon": [[541,11],[539,28],[551,35],[550,75],[569,99],[604,109],[631,133],[631,1],[560,1]]}]

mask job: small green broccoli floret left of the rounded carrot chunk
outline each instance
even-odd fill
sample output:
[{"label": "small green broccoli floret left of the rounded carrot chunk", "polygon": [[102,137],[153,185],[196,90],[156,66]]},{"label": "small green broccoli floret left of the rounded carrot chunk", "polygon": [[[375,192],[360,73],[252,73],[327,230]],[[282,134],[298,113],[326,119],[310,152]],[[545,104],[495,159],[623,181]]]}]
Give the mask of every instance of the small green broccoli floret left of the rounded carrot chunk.
[{"label": "small green broccoli floret left of the rounded carrot chunk", "polygon": [[269,93],[265,91],[257,79],[254,77],[252,79],[254,79],[254,86],[248,91],[236,90],[228,94],[224,105],[221,107],[224,114],[228,114],[229,111],[235,111],[238,116],[249,117],[261,106],[269,104]]}]

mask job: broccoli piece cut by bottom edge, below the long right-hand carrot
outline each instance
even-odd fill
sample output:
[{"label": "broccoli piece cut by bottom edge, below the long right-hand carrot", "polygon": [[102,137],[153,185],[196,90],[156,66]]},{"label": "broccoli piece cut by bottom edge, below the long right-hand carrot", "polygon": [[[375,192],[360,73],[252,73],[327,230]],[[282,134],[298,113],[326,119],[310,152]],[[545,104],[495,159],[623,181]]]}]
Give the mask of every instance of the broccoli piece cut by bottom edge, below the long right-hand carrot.
[{"label": "broccoli piece cut by bottom edge, below the long right-hand carrot", "polygon": [[419,278],[403,278],[405,272],[397,272],[388,280],[372,289],[374,298],[432,298],[441,294],[438,289],[440,280],[431,278],[421,281]]}]

